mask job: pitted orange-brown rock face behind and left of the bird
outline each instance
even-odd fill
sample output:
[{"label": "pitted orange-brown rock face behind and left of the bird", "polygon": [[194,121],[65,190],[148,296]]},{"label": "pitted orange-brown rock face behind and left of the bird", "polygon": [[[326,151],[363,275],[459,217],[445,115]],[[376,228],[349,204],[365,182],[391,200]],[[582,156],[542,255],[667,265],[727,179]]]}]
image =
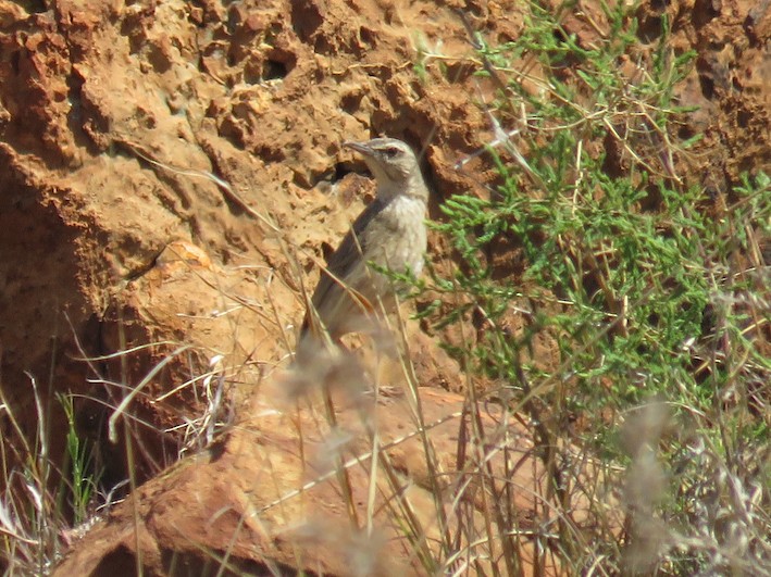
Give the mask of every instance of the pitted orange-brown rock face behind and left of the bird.
[{"label": "pitted orange-brown rock face behind and left of the bird", "polygon": [[[96,397],[79,410],[99,423],[101,403],[122,393],[87,379],[137,384],[170,341],[200,350],[136,399],[154,428],[198,412],[191,387],[148,401],[190,378],[189,361],[207,367],[222,353],[270,372],[294,348],[306,273],[314,283],[323,248],[368,200],[369,180],[343,177],[360,166],[341,142],[394,134],[425,145],[428,175],[478,146],[480,113],[461,91],[432,96],[416,80],[412,46],[423,40],[398,22],[431,14],[421,34],[467,52],[457,24],[444,32],[449,9],[406,5],[384,21],[366,3],[1,7],[0,339],[23,423],[37,418],[25,372],[43,393],[50,381]],[[460,122],[468,115],[475,122]],[[443,125],[455,148],[444,153],[426,138]],[[459,187],[453,177],[437,189]],[[153,343],[90,366],[75,360]],[[136,434],[153,453],[147,475],[176,453],[178,438]],[[120,455],[105,459],[125,476]]]}]

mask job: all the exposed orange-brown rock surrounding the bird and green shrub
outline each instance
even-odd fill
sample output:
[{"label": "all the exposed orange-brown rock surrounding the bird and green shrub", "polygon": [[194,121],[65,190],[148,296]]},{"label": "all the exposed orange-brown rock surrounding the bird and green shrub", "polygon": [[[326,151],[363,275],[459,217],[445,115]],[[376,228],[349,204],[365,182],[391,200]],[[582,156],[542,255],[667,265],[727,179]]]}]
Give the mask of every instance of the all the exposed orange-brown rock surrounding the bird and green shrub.
[{"label": "all the exposed orange-brown rock surrounding the bird and green shrub", "polygon": [[[599,34],[589,22],[602,25],[588,4],[564,18],[587,45]],[[302,287],[312,289],[318,263],[372,198],[343,141],[389,135],[412,145],[434,219],[445,199],[483,195],[495,178],[482,156],[456,166],[492,139],[458,10],[492,42],[523,26],[522,3],[507,0],[0,0],[0,378],[21,428],[4,412],[2,436],[35,438],[37,394],[50,454],[62,462],[55,393],[69,391],[80,399],[79,430],[102,448],[104,482],[125,478],[127,460],[145,482],[75,540],[59,575],[134,574],[138,559],[163,575],[172,559],[195,567],[202,551],[228,551],[253,573],[351,572],[351,535],[315,535],[298,555],[300,541],[282,532],[300,518],[334,526],[347,513],[324,484],[271,505],[314,478],[297,447],[310,449],[322,444],[310,407],[268,401],[286,397],[276,382]],[[664,16],[672,49],[697,52],[675,95],[698,106],[680,136],[704,136],[676,171],[712,191],[719,217],[742,172],[771,166],[771,10],[768,0],[652,2],[638,13],[643,47]],[[427,61],[425,78],[414,67],[419,46],[443,54]],[[451,269],[436,234],[428,254]],[[515,250],[503,243],[495,259],[496,275],[515,281]],[[428,414],[460,411],[451,391],[467,380],[438,336],[411,322],[407,335]],[[398,385],[397,368],[385,375]],[[113,411],[104,407],[121,402],[124,385],[140,392],[130,402],[137,421],[117,419],[130,457],[126,442],[105,439]],[[209,444],[201,415],[221,385],[220,407],[238,426]],[[395,409],[405,401],[391,402],[373,411],[396,438],[409,423]],[[433,435],[451,463],[451,423]],[[166,468],[181,447],[204,446]],[[427,516],[419,453],[394,459]],[[366,496],[357,499],[365,505]],[[245,524],[248,511],[260,520]],[[388,554],[378,555],[389,561],[373,572],[416,570],[393,531],[384,528]]]}]

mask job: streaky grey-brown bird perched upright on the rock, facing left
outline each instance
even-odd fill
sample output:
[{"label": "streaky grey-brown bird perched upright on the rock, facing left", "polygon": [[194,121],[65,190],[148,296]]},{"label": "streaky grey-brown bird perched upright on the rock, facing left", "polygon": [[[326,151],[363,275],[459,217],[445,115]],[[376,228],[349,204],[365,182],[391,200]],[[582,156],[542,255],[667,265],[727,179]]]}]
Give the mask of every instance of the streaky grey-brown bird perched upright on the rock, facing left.
[{"label": "streaky grey-brown bird perched upright on the rock, facing left", "polygon": [[423,268],[428,189],[415,153],[396,138],[344,146],[362,155],[377,190],[321,272],[300,328],[296,359],[324,342],[322,330],[332,343],[343,347],[341,337],[365,328],[380,303],[386,310],[395,308],[396,287],[381,271],[418,276]]}]

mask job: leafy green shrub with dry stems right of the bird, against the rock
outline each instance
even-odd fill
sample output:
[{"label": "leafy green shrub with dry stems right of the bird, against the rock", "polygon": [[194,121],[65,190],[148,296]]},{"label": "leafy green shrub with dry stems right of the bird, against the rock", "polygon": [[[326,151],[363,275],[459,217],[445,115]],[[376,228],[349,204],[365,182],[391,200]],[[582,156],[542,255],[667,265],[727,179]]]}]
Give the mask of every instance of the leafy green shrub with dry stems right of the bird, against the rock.
[{"label": "leafy green shrub with dry stems right of the bird, against the rock", "polygon": [[[445,297],[423,315],[461,303],[437,327],[473,321],[476,337],[448,348],[492,384],[486,398],[530,417],[554,489],[539,519],[549,529],[534,537],[544,555],[571,574],[768,573],[771,180],[746,175],[716,208],[704,183],[677,174],[697,139],[676,137],[687,111],[672,89],[693,54],[668,49],[664,20],[630,75],[620,63],[639,53],[635,20],[606,16],[608,35],[588,48],[534,4],[518,40],[476,38],[481,81],[496,87],[481,105],[498,184],[442,206],[435,228],[460,265],[434,274]],[[521,276],[497,268],[500,247],[519,251]],[[558,351],[557,371],[538,339]],[[593,482],[575,475],[595,459]],[[515,526],[507,480],[488,481],[498,518]],[[567,509],[576,502],[588,503],[581,522]],[[507,549],[496,559],[489,543],[512,551],[521,538],[474,530],[476,555],[510,573]]]}]

